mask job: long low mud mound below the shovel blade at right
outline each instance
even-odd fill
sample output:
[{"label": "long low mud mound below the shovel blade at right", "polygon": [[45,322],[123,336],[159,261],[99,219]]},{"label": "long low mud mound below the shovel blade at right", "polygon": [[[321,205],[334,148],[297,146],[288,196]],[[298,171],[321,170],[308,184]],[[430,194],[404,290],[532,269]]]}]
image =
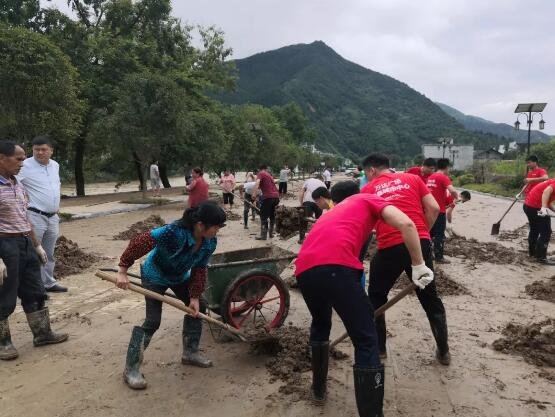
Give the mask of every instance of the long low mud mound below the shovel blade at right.
[{"label": "long low mud mound below the shovel blade at right", "polygon": [[480,242],[464,236],[453,235],[445,243],[445,254],[459,259],[467,259],[472,264],[490,262],[493,264],[524,264],[526,256],[499,243]]}]

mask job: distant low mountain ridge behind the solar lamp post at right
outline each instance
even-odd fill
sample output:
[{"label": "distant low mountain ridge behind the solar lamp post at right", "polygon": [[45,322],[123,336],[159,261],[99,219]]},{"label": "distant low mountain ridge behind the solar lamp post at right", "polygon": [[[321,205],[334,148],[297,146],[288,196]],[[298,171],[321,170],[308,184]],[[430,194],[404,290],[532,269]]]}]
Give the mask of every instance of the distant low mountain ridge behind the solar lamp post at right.
[{"label": "distant low mountain ridge behind the solar lamp post at right", "polygon": [[[447,104],[437,102],[436,104],[441,108],[441,110],[460,122],[468,130],[472,130],[474,132],[493,133],[494,135],[503,136],[510,139],[511,141],[516,141],[518,143],[525,143],[528,141],[528,131],[526,130],[526,123],[522,123],[522,127],[524,127],[524,130],[517,131],[513,129],[513,126],[508,125],[507,123],[495,123],[486,119],[482,119],[481,117],[464,114],[459,110],[448,106]],[[532,143],[550,141],[551,136],[546,135],[539,130],[532,130],[530,132],[530,142]]]}]

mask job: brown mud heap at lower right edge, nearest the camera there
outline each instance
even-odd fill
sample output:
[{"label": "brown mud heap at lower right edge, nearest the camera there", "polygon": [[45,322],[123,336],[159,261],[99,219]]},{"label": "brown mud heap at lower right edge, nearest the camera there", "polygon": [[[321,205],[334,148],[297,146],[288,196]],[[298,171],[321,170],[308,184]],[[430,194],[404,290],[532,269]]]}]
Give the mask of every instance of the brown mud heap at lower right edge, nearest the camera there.
[{"label": "brown mud heap at lower right edge, nearest the camera there", "polygon": [[509,323],[502,331],[504,338],[493,342],[503,353],[518,353],[528,363],[555,366],[555,319],[522,326]]}]

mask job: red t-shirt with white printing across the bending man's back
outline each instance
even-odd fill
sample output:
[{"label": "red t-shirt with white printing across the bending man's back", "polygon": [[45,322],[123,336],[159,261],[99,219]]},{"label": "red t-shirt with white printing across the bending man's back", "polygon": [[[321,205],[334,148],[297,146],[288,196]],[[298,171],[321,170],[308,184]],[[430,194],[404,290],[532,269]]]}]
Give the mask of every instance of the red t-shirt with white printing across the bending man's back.
[{"label": "red t-shirt with white printing across the bending man's back", "polygon": [[[414,222],[420,239],[430,239],[422,197],[430,194],[424,183],[415,175],[386,172],[370,181],[361,192],[376,194],[405,213]],[[386,249],[403,243],[403,235],[383,220],[376,225],[378,249]]]}]

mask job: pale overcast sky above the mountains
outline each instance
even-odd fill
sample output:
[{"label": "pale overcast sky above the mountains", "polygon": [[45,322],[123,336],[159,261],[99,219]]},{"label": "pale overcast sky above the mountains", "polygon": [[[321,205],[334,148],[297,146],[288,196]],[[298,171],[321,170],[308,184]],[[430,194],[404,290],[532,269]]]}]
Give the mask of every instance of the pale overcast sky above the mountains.
[{"label": "pale overcast sky above the mountains", "polygon": [[547,102],[545,132],[555,135],[555,1],[172,3],[184,23],[222,29],[234,58],[322,40],[344,58],[434,101],[492,121],[512,124],[517,103]]}]

